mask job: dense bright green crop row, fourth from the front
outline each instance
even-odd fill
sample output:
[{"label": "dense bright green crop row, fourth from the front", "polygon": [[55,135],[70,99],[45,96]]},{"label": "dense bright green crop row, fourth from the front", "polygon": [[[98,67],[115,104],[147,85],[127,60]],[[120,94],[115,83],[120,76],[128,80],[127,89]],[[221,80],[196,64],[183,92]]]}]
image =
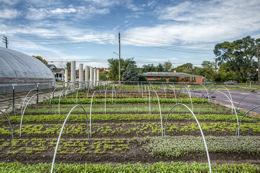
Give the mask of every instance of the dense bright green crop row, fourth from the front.
[{"label": "dense bright green crop row, fourth from the front", "polygon": [[[23,122],[57,122],[64,121],[67,114],[49,114],[49,115],[25,115]],[[90,115],[87,114],[88,120]],[[198,120],[212,121],[237,121],[235,115],[225,114],[195,114]],[[21,122],[21,115],[9,116],[8,119],[12,123]],[[166,120],[167,114],[162,114],[162,119]],[[240,120],[242,116],[238,116]],[[138,121],[138,120],[160,120],[160,114],[91,114],[91,121]],[[194,120],[192,114],[170,114],[168,120]],[[1,119],[5,122],[6,119]],[[68,121],[87,121],[85,114],[70,114]],[[250,118],[244,118],[243,121],[252,121]]]}]

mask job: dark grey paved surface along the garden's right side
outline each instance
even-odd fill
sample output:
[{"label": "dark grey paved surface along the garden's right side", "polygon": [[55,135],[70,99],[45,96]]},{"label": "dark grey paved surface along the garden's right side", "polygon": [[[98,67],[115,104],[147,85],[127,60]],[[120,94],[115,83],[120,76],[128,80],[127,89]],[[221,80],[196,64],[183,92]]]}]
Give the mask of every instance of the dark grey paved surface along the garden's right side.
[{"label": "dark grey paved surface along the garden's right side", "polygon": [[[190,91],[191,91],[191,94],[194,95],[195,90],[190,90]],[[212,91],[214,91],[214,89],[208,90],[208,93],[210,93]],[[216,91],[221,91],[224,94],[226,94],[228,97],[230,97],[227,90],[216,90]],[[229,90],[229,92],[230,92],[230,95],[232,97],[232,101],[233,101],[233,104],[234,104],[235,107],[238,105],[239,101],[244,96],[251,93],[250,90],[247,90],[247,91]],[[218,93],[218,92],[213,93],[213,96],[216,96],[216,98],[213,98],[213,99],[217,99],[218,102],[221,102],[223,104],[230,105],[231,103],[230,103],[229,99],[224,94]],[[206,90],[196,90],[195,95],[196,96],[200,96],[200,95],[207,96],[207,92],[206,92]],[[259,94],[251,94],[251,95],[245,97],[241,101],[241,103],[239,104],[239,108],[250,110],[251,108],[254,108],[255,106],[259,106],[259,105],[260,105],[260,93]],[[254,109],[253,111],[260,113],[260,107]]]}]

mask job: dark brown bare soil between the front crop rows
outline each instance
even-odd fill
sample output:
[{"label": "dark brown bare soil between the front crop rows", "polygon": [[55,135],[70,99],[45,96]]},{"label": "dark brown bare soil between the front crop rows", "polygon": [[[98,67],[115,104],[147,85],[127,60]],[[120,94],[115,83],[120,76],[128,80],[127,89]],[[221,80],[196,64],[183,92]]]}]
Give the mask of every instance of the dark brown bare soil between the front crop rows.
[{"label": "dark brown bare soil between the front crop rows", "polygon": [[[39,106],[41,106],[42,104],[35,104],[33,106],[30,106],[29,108],[38,108]],[[161,106],[163,106],[164,104],[161,104]],[[166,105],[166,104],[165,104]],[[118,106],[118,105],[117,105]],[[134,106],[134,104],[133,104]],[[226,108],[225,108],[226,109]],[[17,111],[19,112],[19,110]],[[20,109],[20,113],[21,113],[21,109]],[[12,114],[12,113],[11,113]],[[8,114],[8,116],[10,116],[11,114]],[[17,113],[18,114],[18,113]],[[39,113],[40,114],[40,113]],[[163,121],[165,122],[165,120]],[[211,120],[207,120],[207,121],[199,121],[200,123],[213,123],[213,122],[226,122],[226,121],[211,121]],[[40,129],[40,131],[45,131],[47,128],[49,127],[55,127],[55,125],[57,124],[62,124],[63,121],[61,122],[43,122],[43,123],[38,123],[38,122],[23,122],[22,125],[43,125],[43,128]],[[84,123],[83,129],[81,129],[81,131],[83,131],[82,134],[74,134],[73,133],[73,127],[70,127],[70,125],[75,125],[75,129],[77,128],[77,125],[80,125],[81,123]],[[204,163],[207,162],[207,155],[201,154],[201,153],[190,153],[188,155],[184,155],[184,156],[180,156],[180,157],[174,157],[174,158],[169,158],[166,156],[162,156],[162,155],[157,155],[156,157],[153,157],[150,155],[149,152],[146,152],[144,150],[142,150],[142,145],[138,144],[138,140],[136,140],[137,137],[137,133],[136,131],[138,131],[138,129],[136,130],[131,130],[131,133],[126,133],[127,129],[131,129],[134,127],[138,126],[139,124],[139,129],[142,128],[142,123],[155,123],[157,124],[156,128],[161,128],[161,121],[158,120],[140,120],[140,121],[92,121],[92,132],[95,131],[95,133],[92,135],[92,138],[90,138],[89,141],[89,145],[87,146],[88,151],[91,151],[91,153],[87,153],[87,154],[81,154],[79,152],[75,152],[74,154],[61,154],[61,153],[57,153],[56,155],[56,163],[101,163],[101,164],[105,164],[105,163],[121,163],[121,164],[125,164],[125,163],[155,163],[155,162],[159,162],[159,161],[164,161],[167,163],[170,163],[171,161],[184,161],[187,163],[192,163],[194,161],[198,162],[198,163]],[[127,124],[129,123],[129,124]],[[131,125],[130,123],[136,123],[136,125]],[[189,123],[196,123],[195,120],[174,120],[174,121],[168,121],[168,123],[177,123],[178,127],[180,128],[182,125],[187,125]],[[182,123],[182,125],[180,125]],[[237,123],[237,122],[230,122],[229,123]],[[248,123],[248,122],[243,122],[243,123]],[[242,123],[242,124],[243,124]],[[252,121],[249,123],[259,123],[258,121]],[[48,124],[48,125],[47,125]],[[0,122],[0,127],[3,128],[3,125],[5,127],[8,127],[8,123],[5,122]],[[62,139],[64,141],[69,141],[71,139],[73,140],[77,140],[77,139],[86,139],[88,138],[88,133],[86,133],[87,130],[87,125],[86,122],[75,122],[75,121],[68,121],[66,123],[65,126],[68,131],[72,130],[72,132],[69,132],[68,134],[64,133],[62,134]],[[103,127],[103,129],[108,129],[107,126],[109,126],[109,128],[111,129],[111,131],[115,131],[115,133],[111,133],[108,132],[107,134],[104,134],[104,131],[97,131],[100,127]],[[21,138],[19,137],[19,134],[17,133],[17,131],[20,129],[20,123],[12,123],[12,128],[13,131],[16,130],[16,132],[14,133],[14,138],[15,139],[34,139],[34,138],[40,138],[42,140],[48,140],[48,141],[52,141],[53,139],[58,138],[59,136],[59,131],[55,130],[54,134],[27,134],[25,132],[22,132],[22,136]],[[117,131],[116,128],[118,128],[119,130]],[[120,128],[126,129],[126,131],[120,131]],[[164,128],[164,124],[163,124],[163,128]],[[157,132],[153,132],[152,129],[149,127],[145,130],[148,134],[142,132],[142,133],[138,133],[138,138],[142,138],[145,136],[161,136],[161,132],[157,131]],[[33,131],[31,131],[33,132]],[[220,131],[220,130],[216,130],[216,131],[203,131],[205,136],[234,136],[235,132],[234,131]],[[181,132],[180,130],[178,131],[174,131],[174,132],[166,132],[166,135],[169,136],[182,136],[182,135],[192,135],[192,136],[201,136],[201,133],[199,130],[194,130],[194,131],[184,131]],[[260,132],[254,132],[253,130],[247,130],[245,132],[240,131],[240,135],[242,136],[259,136]],[[126,139],[129,142],[129,148],[128,150],[123,150],[124,153],[122,152],[116,152],[114,149],[109,150],[107,149],[107,151],[104,154],[95,154],[95,149],[91,150],[90,145],[93,144],[95,141],[95,139],[99,138],[101,140],[101,142],[104,142],[106,139],[110,138],[112,140],[123,140]],[[9,134],[2,134],[0,133],[0,139],[4,139],[5,141],[10,140],[11,139],[11,135]],[[0,142],[1,144],[3,142]],[[127,142],[124,142],[124,144],[127,144]],[[25,153],[25,151],[22,150],[18,151],[15,149],[11,148],[12,143],[10,142],[10,144],[7,147],[3,147],[1,152],[0,152],[0,162],[21,162],[21,163],[30,163],[30,164],[34,164],[34,163],[41,163],[41,162],[47,162],[47,163],[51,163],[53,160],[53,155],[54,155],[54,149],[53,147],[51,148],[50,146],[47,147],[47,149],[44,152],[41,152],[39,154],[36,154],[35,151],[33,151],[33,153],[31,154],[27,154]],[[47,146],[48,144],[46,144]],[[31,148],[35,148],[37,146],[33,146],[31,143],[29,143],[28,145],[26,144],[21,144],[21,146],[19,146],[18,148],[21,147],[31,147]],[[55,147],[55,145],[54,145]],[[1,147],[0,147],[1,148]],[[101,147],[102,148],[102,147]],[[8,151],[18,151],[18,153],[16,155],[14,154],[7,154]],[[103,150],[103,148],[101,149],[101,151]],[[71,151],[70,151],[71,152]],[[110,153],[112,152],[112,153]],[[211,163],[213,164],[231,164],[231,163],[255,163],[255,164],[260,164],[260,157],[259,155],[249,155],[246,153],[209,153],[209,157],[211,160]]]}]

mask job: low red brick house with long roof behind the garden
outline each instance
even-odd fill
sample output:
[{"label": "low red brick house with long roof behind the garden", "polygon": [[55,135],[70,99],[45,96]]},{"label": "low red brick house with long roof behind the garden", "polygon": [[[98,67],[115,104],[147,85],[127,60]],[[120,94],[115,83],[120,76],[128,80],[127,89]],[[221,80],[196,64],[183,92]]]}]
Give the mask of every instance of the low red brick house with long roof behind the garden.
[{"label": "low red brick house with long roof behind the garden", "polygon": [[187,73],[178,73],[178,72],[147,72],[139,74],[140,76],[145,76],[146,80],[157,80],[157,79],[166,79],[166,82],[169,79],[178,78],[179,82],[195,82],[197,84],[202,84],[202,77],[194,74]]}]

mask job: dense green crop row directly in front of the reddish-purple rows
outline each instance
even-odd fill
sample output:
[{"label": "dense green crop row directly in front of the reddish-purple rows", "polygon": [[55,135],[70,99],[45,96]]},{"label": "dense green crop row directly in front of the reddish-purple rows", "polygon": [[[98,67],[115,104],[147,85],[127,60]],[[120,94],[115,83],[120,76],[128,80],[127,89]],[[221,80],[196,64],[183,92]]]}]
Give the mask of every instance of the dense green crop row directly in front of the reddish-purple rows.
[{"label": "dense green crop row directly in front of the reddish-purple rows", "polygon": [[[201,98],[192,98],[192,103],[202,103],[204,99]],[[59,104],[59,99],[52,99],[54,104]],[[149,98],[122,98],[122,99],[113,99],[113,103],[118,104],[118,103],[146,103],[148,101],[149,103]],[[105,99],[102,99],[102,102],[105,102]],[[159,98],[160,103],[176,103],[175,99],[172,98]],[[43,103],[46,103],[44,100]],[[60,99],[60,104],[74,104],[75,100],[74,98],[66,98],[66,99]],[[78,104],[90,104],[91,99],[87,98],[79,98],[78,99]],[[93,98],[92,101],[93,104],[101,104],[101,100],[98,98]],[[111,103],[111,98],[106,99],[106,103]],[[153,98],[153,103],[158,103],[158,99],[156,97]],[[188,104],[190,102],[190,98],[180,98],[179,103],[183,104]]]}]

